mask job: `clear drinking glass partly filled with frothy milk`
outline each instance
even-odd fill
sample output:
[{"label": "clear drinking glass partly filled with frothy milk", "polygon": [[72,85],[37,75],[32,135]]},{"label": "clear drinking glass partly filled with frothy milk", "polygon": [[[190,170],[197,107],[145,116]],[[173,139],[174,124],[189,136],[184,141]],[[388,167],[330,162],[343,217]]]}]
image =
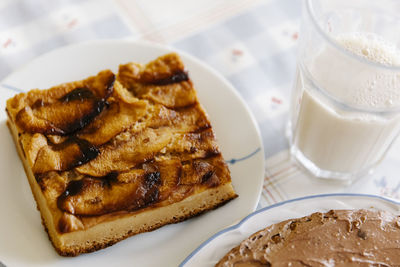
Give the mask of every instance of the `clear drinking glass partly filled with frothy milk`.
[{"label": "clear drinking glass partly filled with frothy milk", "polygon": [[400,130],[400,1],[303,1],[289,139],[314,176],[352,182]]}]

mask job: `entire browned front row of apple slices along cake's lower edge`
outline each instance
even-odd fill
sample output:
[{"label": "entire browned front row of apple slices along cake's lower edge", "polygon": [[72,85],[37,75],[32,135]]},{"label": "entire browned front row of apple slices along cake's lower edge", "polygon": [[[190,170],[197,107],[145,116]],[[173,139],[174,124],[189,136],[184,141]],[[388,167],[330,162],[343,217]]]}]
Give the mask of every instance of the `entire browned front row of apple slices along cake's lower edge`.
[{"label": "entire browned front row of apple slices along cake's lower edge", "polygon": [[[216,167],[220,164],[222,167]],[[173,196],[181,200],[194,185],[212,187],[226,181],[219,157],[181,163],[179,159],[142,163],[127,172],[84,177],[68,183],[58,197],[59,209],[80,216],[133,211]],[[181,193],[179,193],[181,192]]]}]

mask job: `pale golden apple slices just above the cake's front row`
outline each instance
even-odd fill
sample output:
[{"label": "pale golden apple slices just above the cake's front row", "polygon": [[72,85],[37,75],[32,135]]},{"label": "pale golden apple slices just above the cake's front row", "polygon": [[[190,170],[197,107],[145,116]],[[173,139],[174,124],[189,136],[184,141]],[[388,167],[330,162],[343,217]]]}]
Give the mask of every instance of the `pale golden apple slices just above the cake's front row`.
[{"label": "pale golden apple slices just above the cake's front row", "polygon": [[[196,149],[192,149],[195,147]],[[165,150],[164,150],[165,149]],[[168,153],[167,153],[168,151]],[[171,127],[125,132],[100,148],[100,155],[77,168],[82,174],[103,176],[111,171],[127,171],[157,155],[180,155],[183,160],[219,153],[211,129],[202,133],[175,133]]]}]

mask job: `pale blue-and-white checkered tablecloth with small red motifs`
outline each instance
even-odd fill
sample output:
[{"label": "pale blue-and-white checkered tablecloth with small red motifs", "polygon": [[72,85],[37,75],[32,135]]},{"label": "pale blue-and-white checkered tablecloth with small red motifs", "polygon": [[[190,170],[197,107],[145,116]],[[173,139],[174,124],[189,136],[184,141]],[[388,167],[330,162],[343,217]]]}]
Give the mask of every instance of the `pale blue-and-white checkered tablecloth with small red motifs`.
[{"label": "pale blue-and-white checkered tablecloth with small red motifs", "polygon": [[266,158],[259,207],[334,192],[400,199],[399,145],[371,177],[352,186],[317,181],[291,162],[284,131],[300,16],[301,0],[1,0],[0,80],[71,43],[131,38],[168,44],[221,72],[255,115]]}]

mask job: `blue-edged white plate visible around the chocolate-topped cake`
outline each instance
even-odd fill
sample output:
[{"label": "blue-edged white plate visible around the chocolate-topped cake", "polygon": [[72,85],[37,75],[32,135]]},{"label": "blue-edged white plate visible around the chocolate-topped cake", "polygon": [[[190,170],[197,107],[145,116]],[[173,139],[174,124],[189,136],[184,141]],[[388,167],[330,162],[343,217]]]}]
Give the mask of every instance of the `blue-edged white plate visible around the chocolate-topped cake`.
[{"label": "blue-edged white plate visible around the chocolate-topped cake", "polygon": [[331,209],[379,209],[400,214],[400,202],[363,194],[326,194],[284,201],[248,215],[241,222],[220,231],[194,250],[180,267],[211,267],[251,234],[284,220]]}]

